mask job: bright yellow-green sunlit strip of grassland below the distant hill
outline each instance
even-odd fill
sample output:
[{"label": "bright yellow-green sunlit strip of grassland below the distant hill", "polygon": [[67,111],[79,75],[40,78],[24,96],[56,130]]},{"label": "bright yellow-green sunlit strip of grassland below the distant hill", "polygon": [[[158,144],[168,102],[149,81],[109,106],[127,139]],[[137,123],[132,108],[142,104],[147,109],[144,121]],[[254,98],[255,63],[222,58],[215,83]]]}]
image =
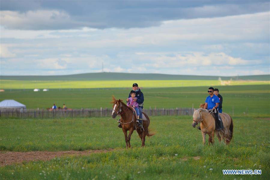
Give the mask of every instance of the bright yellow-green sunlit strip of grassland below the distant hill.
[{"label": "bright yellow-green sunlit strip of grassland below the distant hill", "polygon": [[[1,80],[1,89],[31,89],[47,88],[126,88],[137,82],[140,87],[194,87],[221,85],[218,80],[102,80],[102,81],[21,81]],[[230,85],[269,85],[269,81],[231,81]]]}]

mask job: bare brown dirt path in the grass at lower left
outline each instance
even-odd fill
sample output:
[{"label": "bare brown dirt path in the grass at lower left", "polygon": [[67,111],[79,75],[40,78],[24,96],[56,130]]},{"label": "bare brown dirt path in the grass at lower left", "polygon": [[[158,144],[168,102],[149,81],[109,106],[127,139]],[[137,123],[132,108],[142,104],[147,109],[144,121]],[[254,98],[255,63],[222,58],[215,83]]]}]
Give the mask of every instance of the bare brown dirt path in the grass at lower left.
[{"label": "bare brown dirt path in the grass at lower left", "polygon": [[88,151],[30,151],[30,152],[14,152],[14,151],[1,151],[0,152],[0,162],[1,166],[11,165],[13,163],[22,163],[28,161],[37,160],[51,160],[55,157],[68,156],[68,155],[88,155],[92,153],[102,153],[113,151],[113,149],[108,150],[88,150]]}]

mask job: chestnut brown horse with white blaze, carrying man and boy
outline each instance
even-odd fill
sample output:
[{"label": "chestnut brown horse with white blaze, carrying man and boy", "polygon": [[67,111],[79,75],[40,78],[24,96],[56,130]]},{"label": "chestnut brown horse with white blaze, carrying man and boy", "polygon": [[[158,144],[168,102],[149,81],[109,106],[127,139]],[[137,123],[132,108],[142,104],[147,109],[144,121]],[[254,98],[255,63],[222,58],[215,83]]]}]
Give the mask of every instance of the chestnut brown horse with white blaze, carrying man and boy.
[{"label": "chestnut brown horse with white blaze, carrying man and boy", "polygon": [[[131,147],[130,145],[130,137],[133,133],[133,131],[136,129],[136,115],[133,112],[133,109],[129,106],[127,106],[125,103],[123,103],[122,100],[117,100],[113,96],[113,101],[111,101],[113,105],[113,112],[111,114],[112,118],[115,118],[117,115],[121,116],[120,123],[122,124],[122,130],[125,135],[126,140],[126,148]],[[141,138],[141,147],[144,147],[145,144],[145,136],[153,136],[155,133],[150,132],[148,129],[148,126],[150,124],[150,119],[147,116],[147,114],[143,113],[146,117],[146,121],[143,121],[143,129],[136,129],[139,137]],[[127,135],[127,131],[129,131],[129,135]]]}]

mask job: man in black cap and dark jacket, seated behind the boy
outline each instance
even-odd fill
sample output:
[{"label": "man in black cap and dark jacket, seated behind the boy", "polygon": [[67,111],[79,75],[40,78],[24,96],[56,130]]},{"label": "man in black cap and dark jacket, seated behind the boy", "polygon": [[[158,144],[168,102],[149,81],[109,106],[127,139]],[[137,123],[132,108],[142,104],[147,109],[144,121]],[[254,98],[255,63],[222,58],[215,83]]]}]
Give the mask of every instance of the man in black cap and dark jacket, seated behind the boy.
[{"label": "man in black cap and dark jacket, seated behind the boy", "polygon": [[[143,104],[144,104],[144,94],[141,92],[141,89],[138,87],[138,84],[137,83],[133,83],[132,84],[132,89],[133,91],[136,92],[136,98],[134,99],[134,101],[137,101],[139,103],[139,114],[140,114],[140,118],[139,118],[139,122],[142,124],[142,109],[144,108],[143,107]],[[129,97],[126,99],[126,102],[129,101],[129,98],[131,97],[130,93],[129,93]],[[122,128],[121,126],[121,123],[120,123],[120,119],[118,121],[118,127],[119,128]]]}]

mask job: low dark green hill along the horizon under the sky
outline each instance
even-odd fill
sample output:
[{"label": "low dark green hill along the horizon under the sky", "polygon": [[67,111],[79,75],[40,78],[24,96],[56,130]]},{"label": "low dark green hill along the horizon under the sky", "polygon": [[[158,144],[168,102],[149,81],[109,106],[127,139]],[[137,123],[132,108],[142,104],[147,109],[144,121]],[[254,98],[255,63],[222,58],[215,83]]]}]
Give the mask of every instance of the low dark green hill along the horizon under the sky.
[{"label": "low dark green hill along the horizon under the sky", "polygon": [[192,76],[136,73],[85,73],[59,76],[0,76],[1,80],[31,81],[98,81],[98,80],[257,80],[269,81],[270,75],[254,76]]}]

